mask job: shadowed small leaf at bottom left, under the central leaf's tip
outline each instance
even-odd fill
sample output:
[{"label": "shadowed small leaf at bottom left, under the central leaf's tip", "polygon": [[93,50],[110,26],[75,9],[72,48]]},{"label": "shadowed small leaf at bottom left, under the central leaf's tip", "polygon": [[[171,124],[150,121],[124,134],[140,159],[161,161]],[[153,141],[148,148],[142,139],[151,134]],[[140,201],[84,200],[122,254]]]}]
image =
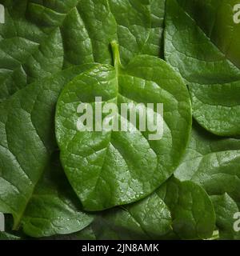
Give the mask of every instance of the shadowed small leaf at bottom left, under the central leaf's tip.
[{"label": "shadowed small leaf at bottom left, under the central leaf's tip", "polygon": [[41,238],[82,230],[94,220],[94,215],[82,212],[79,206],[58,154],[53,155],[22,216],[23,231],[31,237]]}]

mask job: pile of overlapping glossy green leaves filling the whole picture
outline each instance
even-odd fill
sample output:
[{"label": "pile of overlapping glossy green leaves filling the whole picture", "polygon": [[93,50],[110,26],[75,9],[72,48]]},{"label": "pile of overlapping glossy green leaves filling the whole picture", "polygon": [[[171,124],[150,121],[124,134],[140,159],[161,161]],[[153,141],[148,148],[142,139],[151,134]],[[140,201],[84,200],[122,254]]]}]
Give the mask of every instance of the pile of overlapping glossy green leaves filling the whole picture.
[{"label": "pile of overlapping glossy green leaves filling the whole picture", "polygon": [[[240,238],[234,0],[0,3],[1,238]],[[162,139],[78,131],[99,96],[163,103]]]}]

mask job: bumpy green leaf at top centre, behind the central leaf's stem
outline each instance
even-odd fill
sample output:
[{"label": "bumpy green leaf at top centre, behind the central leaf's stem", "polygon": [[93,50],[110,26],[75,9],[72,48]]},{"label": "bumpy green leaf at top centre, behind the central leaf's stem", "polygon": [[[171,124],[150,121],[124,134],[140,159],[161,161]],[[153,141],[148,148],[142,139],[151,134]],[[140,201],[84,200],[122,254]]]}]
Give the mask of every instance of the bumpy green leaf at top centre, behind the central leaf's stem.
[{"label": "bumpy green leaf at top centre, behind the central leaf's stem", "polygon": [[120,45],[122,62],[129,62],[142,50],[151,28],[148,0],[35,0],[30,2],[30,14],[37,24],[54,20],[60,27],[64,66],[110,64],[113,40]]}]

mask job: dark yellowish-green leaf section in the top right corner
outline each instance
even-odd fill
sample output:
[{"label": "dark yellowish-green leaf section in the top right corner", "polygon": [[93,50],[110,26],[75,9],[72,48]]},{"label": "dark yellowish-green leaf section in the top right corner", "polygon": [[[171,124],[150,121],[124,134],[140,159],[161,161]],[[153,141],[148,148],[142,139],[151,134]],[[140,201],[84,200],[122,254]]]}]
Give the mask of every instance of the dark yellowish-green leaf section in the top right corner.
[{"label": "dark yellowish-green leaf section in the top right corner", "polygon": [[178,0],[178,3],[225,54],[240,68],[240,26],[234,22],[236,0]]}]

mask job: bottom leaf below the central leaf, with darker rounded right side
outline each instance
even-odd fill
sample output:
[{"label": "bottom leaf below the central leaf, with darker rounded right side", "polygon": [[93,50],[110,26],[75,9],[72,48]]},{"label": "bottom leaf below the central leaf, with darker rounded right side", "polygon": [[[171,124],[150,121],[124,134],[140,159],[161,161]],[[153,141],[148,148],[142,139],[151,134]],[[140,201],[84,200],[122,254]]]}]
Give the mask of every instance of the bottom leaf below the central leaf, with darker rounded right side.
[{"label": "bottom leaf below the central leaf, with darker rounded right side", "polygon": [[85,230],[59,238],[202,239],[214,227],[214,208],[202,187],[170,178],[149,197],[102,212]]}]

